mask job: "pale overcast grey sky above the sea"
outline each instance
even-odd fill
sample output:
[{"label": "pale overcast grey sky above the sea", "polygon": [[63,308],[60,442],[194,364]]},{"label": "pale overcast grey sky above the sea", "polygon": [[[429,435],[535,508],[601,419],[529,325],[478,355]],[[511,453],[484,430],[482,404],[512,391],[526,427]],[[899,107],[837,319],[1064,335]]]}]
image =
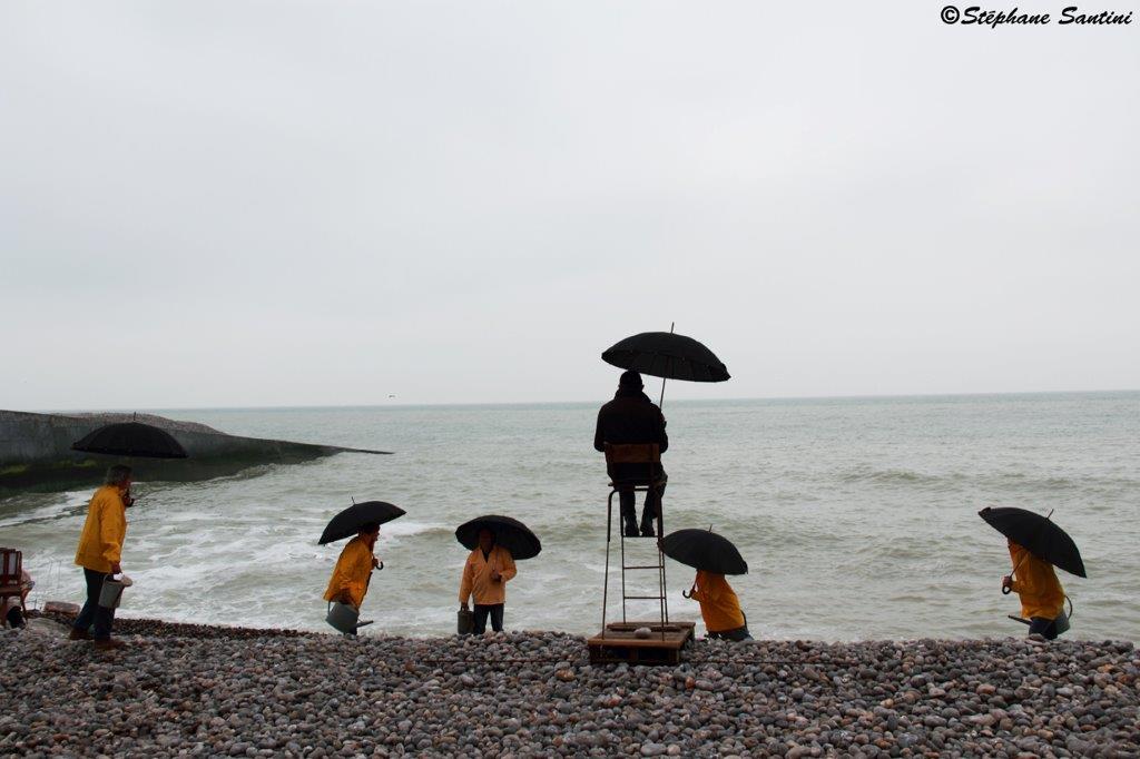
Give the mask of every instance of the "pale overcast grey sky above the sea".
[{"label": "pale overcast grey sky above the sea", "polygon": [[944,5],[6,0],[0,408],[1140,387],[1140,21]]}]

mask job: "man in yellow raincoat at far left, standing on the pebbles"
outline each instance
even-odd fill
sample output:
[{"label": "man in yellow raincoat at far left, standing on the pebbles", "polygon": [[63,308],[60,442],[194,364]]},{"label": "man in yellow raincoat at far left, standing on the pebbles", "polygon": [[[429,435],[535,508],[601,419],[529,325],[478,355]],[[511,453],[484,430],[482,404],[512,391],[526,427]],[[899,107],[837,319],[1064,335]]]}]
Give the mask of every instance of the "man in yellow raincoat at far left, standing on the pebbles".
[{"label": "man in yellow raincoat at far left, standing on the pebbles", "polygon": [[87,582],[87,601],[72,626],[72,640],[91,638],[95,628],[95,645],[98,648],[117,648],[121,640],[112,640],[111,627],[115,621],[115,610],[99,605],[103,581],[123,571],[123,539],[127,537],[127,507],[132,504],[131,467],[116,464],[107,470],[105,484],[95,491],[87,507],[87,521],[79,537],[75,564],[83,568]]}]

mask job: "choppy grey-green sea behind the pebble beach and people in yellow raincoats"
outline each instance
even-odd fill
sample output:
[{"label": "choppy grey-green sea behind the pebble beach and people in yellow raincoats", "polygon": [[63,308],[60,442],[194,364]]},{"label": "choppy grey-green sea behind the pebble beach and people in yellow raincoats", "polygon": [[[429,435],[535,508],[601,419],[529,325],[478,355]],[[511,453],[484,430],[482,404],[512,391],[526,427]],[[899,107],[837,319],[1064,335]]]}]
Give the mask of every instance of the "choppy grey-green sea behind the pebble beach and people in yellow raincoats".
[{"label": "choppy grey-green sea behind the pebble beach and people in yellow raincoats", "polygon": [[[381,530],[366,635],[454,634],[467,555],[455,528],[522,520],[543,552],[519,562],[506,627],[601,629],[606,487],[597,403],[157,409],[223,432],[394,451],[270,464],[203,482],[147,481],[122,565],[121,617],[331,631],[321,593],[342,544],[317,545],[356,500],[407,514]],[[669,401],[666,532],[712,529],[748,562],[730,581],[757,638],[1023,636],[1000,591],[1005,539],[978,516],[1017,506],[1064,528],[1088,579],[1058,572],[1074,638],[1140,637],[1140,392]],[[35,604],[81,602],[75,544],[91,489],[0,500],[0,544],[24,549]],[[614,499],[614,527],[617,527]],[[640,500],[640,499],[638,499]],[[638,503],[638,511],[641,504]],[[620,618],[617,530],[608,619]],[[653,541],[629,540],[632,562]],[[627,593],[653,591],[656,573]],[[671,619],[693,570],[667,563]],[[638,605],[642,604],[642,605]],[[656,619],[629,602],[628,619]]]}]

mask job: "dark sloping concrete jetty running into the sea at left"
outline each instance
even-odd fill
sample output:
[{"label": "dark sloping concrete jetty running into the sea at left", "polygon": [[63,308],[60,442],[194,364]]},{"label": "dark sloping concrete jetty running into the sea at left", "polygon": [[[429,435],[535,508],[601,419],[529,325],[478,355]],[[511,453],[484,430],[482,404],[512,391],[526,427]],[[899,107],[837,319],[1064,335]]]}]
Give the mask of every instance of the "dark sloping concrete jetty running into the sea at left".
[{"label": "dark sloping concrete jetty running into the sea at left", "polygon": [[391,452],[243,438],[204,424],[153,414],[65,415],[0,410],[0,496],[98,483],[107,465],[120,459],[73,451],[72,443],[105,424],[132,419],[166,430],[189,455],[187,459],[176,460],[139,459],[139,463],[145,462],[147,480],[206,480],[259,464],[295,464],[342,452]]}]

